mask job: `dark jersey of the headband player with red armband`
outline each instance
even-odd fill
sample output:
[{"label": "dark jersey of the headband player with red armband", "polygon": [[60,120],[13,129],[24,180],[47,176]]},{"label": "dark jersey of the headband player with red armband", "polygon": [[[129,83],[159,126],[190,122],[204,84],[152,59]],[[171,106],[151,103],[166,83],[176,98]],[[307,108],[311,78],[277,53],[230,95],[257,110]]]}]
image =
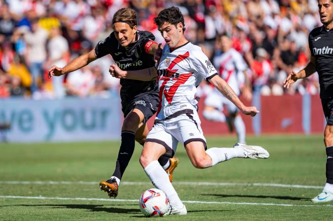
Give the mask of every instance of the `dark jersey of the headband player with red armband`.
[{"label": "dark jersey of the headband player with red armband", "polygon": [[[96,57],[102,57],[110,54],[116,64],[122,70],[141,70],[155,65],[154,57],[147,54],[145,45],[149,41],[155,40],[153,34],[148,31],[137,31],[135,41],[129,44],[129,48],[120,45],[112,32],[107,38],[97,43],[95,47]],[[131,101],[135,96],[146,92],[157,93],[158,87],[156,81],[137,81],[130,79],[121,79],[122,86],[120,96],[122,103]]]}]

